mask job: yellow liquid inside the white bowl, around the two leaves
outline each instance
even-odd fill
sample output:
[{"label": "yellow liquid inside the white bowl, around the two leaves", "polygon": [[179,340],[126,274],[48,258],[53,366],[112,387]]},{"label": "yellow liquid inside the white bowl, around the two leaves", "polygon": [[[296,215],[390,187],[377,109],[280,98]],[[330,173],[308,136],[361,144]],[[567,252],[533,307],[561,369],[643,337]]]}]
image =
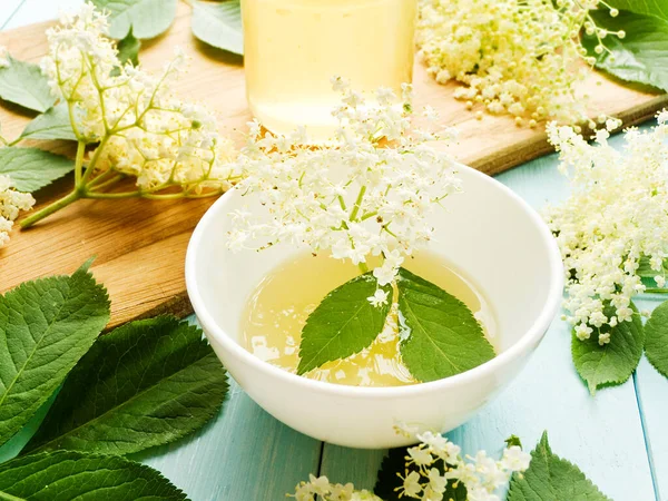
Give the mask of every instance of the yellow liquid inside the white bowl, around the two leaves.
[{"label": "yellow liquid inside the white bowl, around the two leaves", "polygon": [[[495,345],[494,315],[484,296],[446,262],[422,252],[404,266],[462,301]],[[256,287],[242,317],[243,342],[258,358],[296,373],[301,333],[306,318],[334,288],[360,275],[347,262],[304,254],[278,266]],[[305,377],[353,386],[415,384],[399,352],[397,313],[393,306],[383,332],[362,352],[328,362]]]}]

